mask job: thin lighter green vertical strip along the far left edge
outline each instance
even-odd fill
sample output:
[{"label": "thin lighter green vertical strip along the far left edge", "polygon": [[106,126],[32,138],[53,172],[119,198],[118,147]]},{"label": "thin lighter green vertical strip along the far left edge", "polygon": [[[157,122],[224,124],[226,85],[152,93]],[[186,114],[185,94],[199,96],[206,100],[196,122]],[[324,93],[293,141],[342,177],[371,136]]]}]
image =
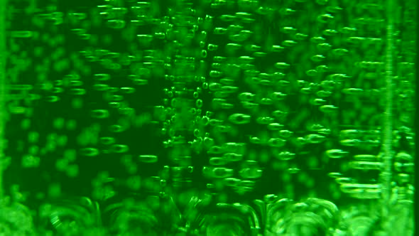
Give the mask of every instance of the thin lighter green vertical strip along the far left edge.
[{"label": "thin lighter green vertical strip along the far left edge", "polygon": [[0,1],[0,200],[3,199],[4,122],[6,122],[6,7],[8,0]]}]

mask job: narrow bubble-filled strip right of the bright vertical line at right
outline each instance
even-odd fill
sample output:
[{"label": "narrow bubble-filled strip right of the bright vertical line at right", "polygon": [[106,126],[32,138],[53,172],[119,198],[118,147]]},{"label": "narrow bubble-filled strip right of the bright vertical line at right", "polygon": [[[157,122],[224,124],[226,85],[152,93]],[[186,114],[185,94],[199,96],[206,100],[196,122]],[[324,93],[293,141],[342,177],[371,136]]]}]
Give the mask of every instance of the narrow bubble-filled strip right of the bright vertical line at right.
[{"label": "narrow bubble-filled strip right of the bright vertical line at right", "polygon": [[[397,186],[392,189],[392,200],[413,200],[413,166],[414,166],[414,146],[413,136],[413,112],[415,111],[415,53],[417,48],[415,43],[415,21],[413,12],[415,4],[411,1],[400,3],[401,18],[403,21],[395,19],[395,30],[403,28],[403,31],[395,31],[394,42],[399,50],[393,55],[393,181]],[[405,7],[403,7],[403,5]],[[407,7],[413,6],[413,7]],[[399,39],[398,39],[399,38]]]}]

